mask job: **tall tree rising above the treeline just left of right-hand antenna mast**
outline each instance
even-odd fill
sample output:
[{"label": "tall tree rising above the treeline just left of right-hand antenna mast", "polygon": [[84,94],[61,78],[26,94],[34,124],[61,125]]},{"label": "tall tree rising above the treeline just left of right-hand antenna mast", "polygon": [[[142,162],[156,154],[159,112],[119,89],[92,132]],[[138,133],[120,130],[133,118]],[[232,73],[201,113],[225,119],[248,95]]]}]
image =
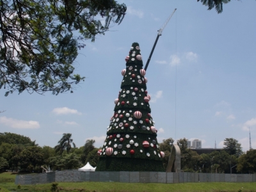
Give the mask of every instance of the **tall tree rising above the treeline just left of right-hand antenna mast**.
[{"label": "tall tree rising above the treeline just left of right-hand antenna mast", "polygon": [[241,156],[241,154],[243,154],[241,143],[238,143],[238,141],[235,140],[234,138],[225,138],[224,145],[225,147],[223,148],[230,155],[239,157]]}]

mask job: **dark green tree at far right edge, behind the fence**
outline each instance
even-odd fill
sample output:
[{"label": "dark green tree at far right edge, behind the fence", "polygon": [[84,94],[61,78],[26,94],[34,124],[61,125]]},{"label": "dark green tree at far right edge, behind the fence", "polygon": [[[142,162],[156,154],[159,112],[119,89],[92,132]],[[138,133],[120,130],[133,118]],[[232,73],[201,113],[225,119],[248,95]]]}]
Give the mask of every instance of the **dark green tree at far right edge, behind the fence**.
[{"label": "dark green tree at far right edge, behind the fence", "polygon": [[237,172],[256,173],[256,150],[251,149],[238,159]]}]

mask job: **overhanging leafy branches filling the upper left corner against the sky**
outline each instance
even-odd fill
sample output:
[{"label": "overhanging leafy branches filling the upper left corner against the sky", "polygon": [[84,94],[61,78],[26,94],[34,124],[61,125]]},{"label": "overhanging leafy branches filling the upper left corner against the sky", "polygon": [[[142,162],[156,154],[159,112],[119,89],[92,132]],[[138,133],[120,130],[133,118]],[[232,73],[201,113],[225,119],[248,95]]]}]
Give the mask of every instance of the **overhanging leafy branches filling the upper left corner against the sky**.
[{"label": "overhanging leafy branches filling the upper left corner against the sky", "polygon": [[120,24],[125,11],[125,4],[114,0],[1,1],[0,88],[8,88],[5,96],[24,90],[73,92],[74,84],[84,80],[74,74],[77,50],[84,40],[104,35],[111,22]]}]

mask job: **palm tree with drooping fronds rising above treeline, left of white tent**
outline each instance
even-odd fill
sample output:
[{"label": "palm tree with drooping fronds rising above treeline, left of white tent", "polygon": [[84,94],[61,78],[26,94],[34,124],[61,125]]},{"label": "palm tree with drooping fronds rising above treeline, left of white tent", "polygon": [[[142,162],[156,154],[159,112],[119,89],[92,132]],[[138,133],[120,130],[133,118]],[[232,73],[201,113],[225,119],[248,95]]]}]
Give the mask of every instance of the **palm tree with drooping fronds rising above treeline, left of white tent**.
[{"label": "palm tree with drooping fronds rising above treeline, left of white tent", "polygon": [[76,144],[71,139],[71,136],[71,133],[63,133],[62,138],[60,139],[60,141],[58,141],[59,144],[54,147],[55,152],[60,152],[60,154],[62,154],[66,150],[68,153],[72,148],[71,144],[74,148],[76,148]]}]

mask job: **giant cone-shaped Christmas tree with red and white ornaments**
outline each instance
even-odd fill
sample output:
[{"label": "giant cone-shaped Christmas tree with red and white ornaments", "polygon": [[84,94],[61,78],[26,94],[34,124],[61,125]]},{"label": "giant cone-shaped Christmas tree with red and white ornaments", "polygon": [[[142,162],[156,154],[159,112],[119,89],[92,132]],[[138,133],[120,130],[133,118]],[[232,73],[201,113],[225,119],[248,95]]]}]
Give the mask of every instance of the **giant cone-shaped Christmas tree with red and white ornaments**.
[{"label": "giant cone-shaped Christmas tree with red and white ornaments", "polygon": [[157,143],[157,130],[150,115],[150,95],[138,43],[132,44],[125,61],[124,79],[106,140],[98,151],[96,171],[164,172],[164,153]]}]

